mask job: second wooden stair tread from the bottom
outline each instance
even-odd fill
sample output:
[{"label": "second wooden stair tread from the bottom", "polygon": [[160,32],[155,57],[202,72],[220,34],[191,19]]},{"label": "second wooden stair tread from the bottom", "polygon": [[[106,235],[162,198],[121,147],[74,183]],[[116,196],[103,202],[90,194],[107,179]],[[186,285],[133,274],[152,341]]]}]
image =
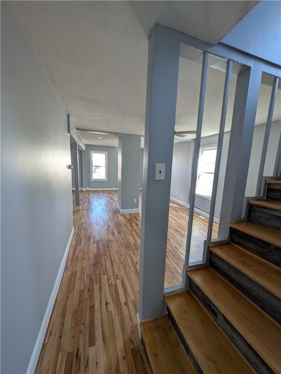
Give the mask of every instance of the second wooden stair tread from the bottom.
[{"label": "second wooden stair tread from the bottom", "polygon": [[255,373],[191,292],[165,302],[203,373]]}]

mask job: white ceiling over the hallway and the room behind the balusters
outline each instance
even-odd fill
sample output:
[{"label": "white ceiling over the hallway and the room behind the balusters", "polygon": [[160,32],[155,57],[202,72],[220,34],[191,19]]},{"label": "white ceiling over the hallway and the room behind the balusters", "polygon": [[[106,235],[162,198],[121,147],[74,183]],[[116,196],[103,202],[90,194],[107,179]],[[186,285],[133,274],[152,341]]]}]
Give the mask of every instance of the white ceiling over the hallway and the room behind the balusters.
[{"label": "white ceiling over the hallway and the room behind the balusters", "polygon": [[[153,24],[216,43],[256,3],[9,1],[8,6],[77,128],[144,134],[147,36]],[[200,74],[199,63],[180,59],[176,130],[195,129]],[[204,136],[217,132],[224,81],[218,70],[208,74]],[[262,86],[267,97],[270,87]],[[230,103],[233,95],[234,86]],[[267,109],[264,100],[257,123],[265,122]],[[280,110],[274,118],[281,118]],[[93,134],[81,135],[86,143],[98,141]],[[102,142],[116,144],[116,137]]]}]

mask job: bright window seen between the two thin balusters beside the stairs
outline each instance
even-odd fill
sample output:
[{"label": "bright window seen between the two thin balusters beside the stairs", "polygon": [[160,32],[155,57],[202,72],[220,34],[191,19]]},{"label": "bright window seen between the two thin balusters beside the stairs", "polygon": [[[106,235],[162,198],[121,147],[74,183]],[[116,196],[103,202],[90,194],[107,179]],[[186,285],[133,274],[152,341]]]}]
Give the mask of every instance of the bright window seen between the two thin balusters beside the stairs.
[{"label": "bright window seen between the two thin balusters beside the stairs", "polygon": [[200,149],[196,185],[197,195],[211,198],[216,154],[216,147]]}]

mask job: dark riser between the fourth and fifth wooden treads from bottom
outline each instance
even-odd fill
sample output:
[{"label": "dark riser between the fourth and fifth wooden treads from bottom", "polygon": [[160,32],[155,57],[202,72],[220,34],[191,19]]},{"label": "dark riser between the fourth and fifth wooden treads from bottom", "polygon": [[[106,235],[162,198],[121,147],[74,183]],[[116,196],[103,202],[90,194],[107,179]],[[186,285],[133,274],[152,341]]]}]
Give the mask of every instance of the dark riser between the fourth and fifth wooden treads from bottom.
[{"label": "dark riser between the fourth and fifth wooden treads from bottom", "polygon": [[281,247],[264,242],[243,231],[230,227],[230,242],[245,248],[264,260],[281,267]]}]

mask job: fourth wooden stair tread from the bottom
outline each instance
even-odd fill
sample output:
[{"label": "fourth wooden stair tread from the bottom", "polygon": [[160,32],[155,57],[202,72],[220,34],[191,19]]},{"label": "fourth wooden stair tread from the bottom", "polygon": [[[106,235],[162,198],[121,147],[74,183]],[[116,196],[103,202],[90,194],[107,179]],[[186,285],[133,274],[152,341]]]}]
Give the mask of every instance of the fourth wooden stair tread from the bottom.
[{"label": "fourth wooden stair tread from the bottom", "polygon": [[233,244],[213,245],[209,249],[281,299],[281,268]]}]

